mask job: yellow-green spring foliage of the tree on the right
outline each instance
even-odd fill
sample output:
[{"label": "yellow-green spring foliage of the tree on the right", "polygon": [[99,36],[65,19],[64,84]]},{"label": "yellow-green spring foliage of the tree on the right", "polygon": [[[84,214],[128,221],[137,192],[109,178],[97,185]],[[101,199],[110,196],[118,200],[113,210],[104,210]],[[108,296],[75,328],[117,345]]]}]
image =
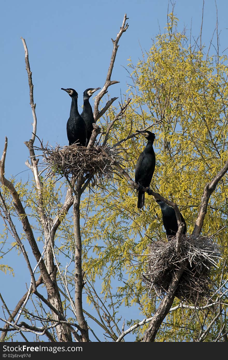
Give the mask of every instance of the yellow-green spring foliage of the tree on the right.
[{"label": "yellow-green spring foliage of the tree on the right", "polygon": [[[227,57],[209,57],[204,49],[193,48],[176,30],[173,14],[169,19],[166,32],[156,37],[138,64],[129,63],[131,80],[126,96],[132,100],[126,118],[115,123],[109,143],[151,126],[149,130],[156,134],[151,188],[179,206],[191,234],[204,186],[228,159]],[[115,112],[115,108],[109,109],[110,118]],[[127,148],[122,156],[133,179],[137,158],[146,144],[143,137],[137,138],[120,145]],[[143,317],[151,316],[158,303],[144,291],[140,274],[145,266],[142,255],[146,255],[151,239],[165,239],[160,207],[146,194],[144,209],[139,211],[136,191],[118,176],[96,187],[89,199],[84,196],[83,269],[87,278],[103,279],[102,293],[107,298],[111,297],[110,286],[119,283],[116,290],[112,289],[112,293],[117,292],[115,301],[140,303]],[[224,246],[224,257],[228,245],[227,197],[225,175],[210,198],[202,229],[202,235],[214,235],[214,240]],[[215,279],[219,281],[218,272]],[[182,341],[184,337],[189,341],[195,325],[191,324],[191,312],[186,310],[185,315],[189,318],[186,333],[179,331],[183,325],[181,311],[171,312],[168,319],[174,324],[172,332],[164,335],[161,329],[157,341]]]}]

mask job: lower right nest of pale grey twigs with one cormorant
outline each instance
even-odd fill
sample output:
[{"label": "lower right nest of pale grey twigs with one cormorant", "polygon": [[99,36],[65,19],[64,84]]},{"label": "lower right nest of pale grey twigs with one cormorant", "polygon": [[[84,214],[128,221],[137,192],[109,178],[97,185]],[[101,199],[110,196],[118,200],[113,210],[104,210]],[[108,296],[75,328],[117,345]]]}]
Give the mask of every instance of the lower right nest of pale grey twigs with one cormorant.
[{"label": "lower right nest of pale grey twigs with one cormorant", "polygon": [[175,251],[176,238],[169,242],[157,241],[149,246],[147,272],[142,275],[146,288],[164,295],[171,282],[175,270],[180,269],[183,261],[187,261],[180,278],[175,296],[180,300],[196,306],[203,304],[211,297],[212,267],[218,267],[221,258],[219,247],[209,237],[192,238],[182,235],[180,254]]}]

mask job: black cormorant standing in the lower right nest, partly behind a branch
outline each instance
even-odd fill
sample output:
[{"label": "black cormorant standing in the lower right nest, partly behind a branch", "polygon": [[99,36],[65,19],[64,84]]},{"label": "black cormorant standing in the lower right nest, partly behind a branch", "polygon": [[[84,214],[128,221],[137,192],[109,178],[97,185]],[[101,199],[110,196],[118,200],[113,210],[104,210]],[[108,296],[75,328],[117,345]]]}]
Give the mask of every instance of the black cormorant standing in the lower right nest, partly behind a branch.
[{"label": "black cormorant standing in the lower right nest, partly behind a branch", "polygon": [[[161,207],[162,212],[162,221],[166,231],[167,239],[170,237],[176,236],[176,232],[178,230],[178,223],[176,220],[176,213],[173,207],[168,206],[164,201],[155,200]],[[183,234],[187,233],[187,225],[183,218],[183,215],[180,214],[180,219],[184,223]]]}]

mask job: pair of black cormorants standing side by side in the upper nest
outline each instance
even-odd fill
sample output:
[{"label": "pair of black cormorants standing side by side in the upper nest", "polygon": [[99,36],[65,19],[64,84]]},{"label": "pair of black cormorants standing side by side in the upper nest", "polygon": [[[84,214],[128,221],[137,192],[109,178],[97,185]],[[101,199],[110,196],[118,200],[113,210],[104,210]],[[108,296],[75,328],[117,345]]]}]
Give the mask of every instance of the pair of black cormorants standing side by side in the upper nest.
[{"label": "pair of black cormorants standing side by side in the upper nest", "polygon": [[68,88],[61,90],[66,91],[71,97],[71,110],[70,117],[67,121],[67,139],[69,145],[77,144],[79,146],[87,146],[89,143],[90,136],[93,131],[93,111],[89,103],[89,98],[93,93],[99,90],[100,87],[95,89],[90,87],[83,93],[83,111],[79,114],[77,108],[78,93],[74,89]]}]

